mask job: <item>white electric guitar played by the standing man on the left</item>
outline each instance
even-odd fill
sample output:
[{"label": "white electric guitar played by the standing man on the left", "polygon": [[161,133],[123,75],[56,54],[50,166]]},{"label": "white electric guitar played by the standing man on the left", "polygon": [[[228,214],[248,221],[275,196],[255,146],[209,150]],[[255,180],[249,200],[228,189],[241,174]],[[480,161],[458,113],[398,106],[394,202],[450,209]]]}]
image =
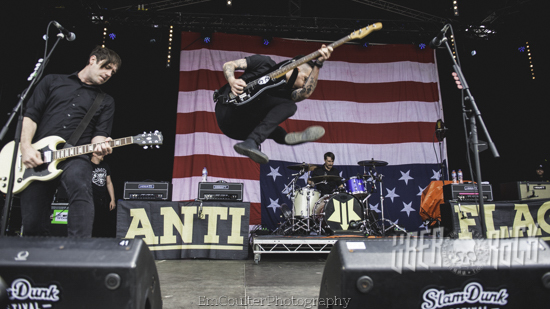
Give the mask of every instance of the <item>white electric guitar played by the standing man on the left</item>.
[{"label": "white electric guitar played by the standing man on the left", "polygon": [[[155,131],[153,133],[143,133],[136,136],[119,138],[106,143],[109,143],[113,148],[131,144],[138,144],[144,146],[144,148],[148,148],[153,145],[162,145],[162,140],[162,133]],[[63,172],[63,170],[57,168],[59,162],[70,157],[92,153],[94,152],[95,146],[98,145],[88,144],[57,149],[57,145],[64,142],[65,140],[59,136],[48,136],[32,144],[32,147],[40,152],[42,160],[44,161],[44,164],[34,168],[25,168],[21,157],[21,149],[18,149],[13,193],[17,194],[23,191],[35,180],[48,181],[57,178]],[[11,141],[7,143],[0,152],[0,191],[3,193],[8,192],[8,181],[12,166],[14,145],[15,142]]]}]

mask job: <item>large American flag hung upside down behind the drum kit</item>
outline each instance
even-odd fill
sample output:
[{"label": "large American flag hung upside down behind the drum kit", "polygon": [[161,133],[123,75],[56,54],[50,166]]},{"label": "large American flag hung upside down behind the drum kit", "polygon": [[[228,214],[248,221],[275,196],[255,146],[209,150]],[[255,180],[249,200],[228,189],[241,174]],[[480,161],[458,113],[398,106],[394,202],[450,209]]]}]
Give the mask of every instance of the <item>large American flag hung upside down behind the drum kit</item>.
[{"label": "large American flag hung upside down behind the drum kit", "polygon": [[[434,131],[443,111],[435,52],[412,45],[338,47],[321,69],[313,95],[299,102],[296,114],[282,124],[287,132],[321,125],[325,136],[297,146],[267,140],[262,152],[270,162],[260,165],[237,154],[233,145],[238,141],[223,135],[217,126],[212,93],[226,83],[223,64],[252,54],[280,62],[321,46],[281,38],[267,46],[263,43],[259,36],[224,33],[214,33],[206,43],[199,33],[182,33],[173,200],[197,198],[206,167],[209,182],[244,183],[244,201],[251,205],[250,224],[274,229],[281,220],[280,206],[292,205],[283,191],[296,171],[287,166],[321,165],[323,154],[331,151],[335,167],[346,179],[364,173],[359,161],[388,162],[377,168],[383,181],[369,198],[368,207],[379,213],[382,197],[385,218],[408,231],[423,227],[421,192],[441,178],[441,153]],[[442,156],[445,160],[444,150]],[[299,178],[297,185],[305,186],[306,178]]]}]

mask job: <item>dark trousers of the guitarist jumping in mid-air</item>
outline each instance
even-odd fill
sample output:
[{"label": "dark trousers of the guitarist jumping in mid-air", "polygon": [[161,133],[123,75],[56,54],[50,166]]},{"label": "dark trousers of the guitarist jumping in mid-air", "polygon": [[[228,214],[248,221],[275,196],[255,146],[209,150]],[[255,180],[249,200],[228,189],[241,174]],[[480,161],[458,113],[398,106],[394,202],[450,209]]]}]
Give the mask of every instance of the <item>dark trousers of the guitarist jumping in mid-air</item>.
[{"label": "dark trousers of the guitarist jumping in mid-air", "polygon": [[287,133],[279,124],[292,117],[297,109],[291,100],[263,95],[242,106],[216,104],[216,120],[223,134],[232,139],[250,138],[260,145],[269,138],[286,144]]}]

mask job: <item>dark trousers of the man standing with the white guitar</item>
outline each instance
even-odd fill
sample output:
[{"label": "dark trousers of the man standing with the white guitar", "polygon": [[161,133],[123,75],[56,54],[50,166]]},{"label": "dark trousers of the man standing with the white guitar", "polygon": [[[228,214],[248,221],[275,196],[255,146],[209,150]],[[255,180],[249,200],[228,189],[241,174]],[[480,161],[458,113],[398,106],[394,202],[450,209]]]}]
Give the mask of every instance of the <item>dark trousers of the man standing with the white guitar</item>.
[{"label": "dark trousers of the man standing with the white guitar", "polygon": [[51,204],[59,183],[67,191],[69,237],[91,237],[94,220],[92,165],[86,155],[61,162],[63,173],[51,181],[34,181],[21,192],[24,236],[48,236]]}]

